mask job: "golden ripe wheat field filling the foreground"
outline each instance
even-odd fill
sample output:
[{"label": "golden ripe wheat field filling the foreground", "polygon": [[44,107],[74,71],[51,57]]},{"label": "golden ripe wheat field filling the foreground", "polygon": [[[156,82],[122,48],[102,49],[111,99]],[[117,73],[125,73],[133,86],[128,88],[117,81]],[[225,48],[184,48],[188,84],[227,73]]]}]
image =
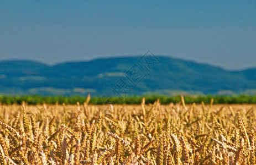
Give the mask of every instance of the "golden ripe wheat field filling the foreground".
[{"label": "golden ripe wheat field filling the foreground", "polygon": [[1,164],[255,164],[256,105],[89,101],[0,105]]}]

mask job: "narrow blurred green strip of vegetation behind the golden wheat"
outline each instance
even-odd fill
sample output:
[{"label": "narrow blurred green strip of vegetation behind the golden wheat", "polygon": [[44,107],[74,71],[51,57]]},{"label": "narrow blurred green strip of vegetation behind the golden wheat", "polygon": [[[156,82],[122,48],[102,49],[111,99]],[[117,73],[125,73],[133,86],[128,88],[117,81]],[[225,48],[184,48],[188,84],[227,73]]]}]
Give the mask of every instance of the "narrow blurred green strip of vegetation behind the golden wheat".
[{"label": "narrow blurred green strip of vegetation behind the golden wheat", "polygon": [[[158,98],[161,104],[169,104],[171,102],[178,103],[181,102],[180,96],[162,96],[162,95],[150,95],[144,96],[145,103],[154,103]],[[28,103],[29,105],[37,105],[37,104],[55,104],[55,103],[65,103],[70,105],[75,105],[77,102],[82,104],[86,101],[87,97],[81,96],[0,96],[0,102],[4,105],[12,105],[14,103],[21,104],[23,101]],[[102,105],[102,104],[129,104],[129,105],[138,105],[142,102],[143,96],[127,96],[127,97],[92,97],[90,100],[90,104]],[[242,104],[242,103],[256,103],[256,96],[247,96],[247,95],[239,95],[239,96],[185,96],[185,103],[201,103],[209,104],[211,99],[213,98],[215,104]]]}]

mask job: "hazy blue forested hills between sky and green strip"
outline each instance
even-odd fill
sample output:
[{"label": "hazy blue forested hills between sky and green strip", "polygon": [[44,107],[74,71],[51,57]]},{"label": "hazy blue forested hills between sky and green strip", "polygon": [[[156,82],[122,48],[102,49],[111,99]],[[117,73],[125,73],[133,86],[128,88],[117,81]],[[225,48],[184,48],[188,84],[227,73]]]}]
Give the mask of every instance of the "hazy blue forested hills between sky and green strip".
[{"label": "hazy blue forested hills between sky and green strip", "polygon": [[[7,95],[116,95],[112,87],[125,81],[128,95],[256,94],[256,68],[231,72],[211,65],[158,57],[144,66],[140,57],[102,58],[53,66],[33,61],[0,62],[0,94]],[[135,66],[142,74],[135,86],[128,78]],[[138,70],[138,69],[137,69]],[[127,73],[127,76],[125,75]],[[141,78],[141,76],[145,76]],[[122,79],[120,79],[122,78]],[[134,78],[134,77],[133,77]],[[121,84],[119,84],[121,85]]]}]

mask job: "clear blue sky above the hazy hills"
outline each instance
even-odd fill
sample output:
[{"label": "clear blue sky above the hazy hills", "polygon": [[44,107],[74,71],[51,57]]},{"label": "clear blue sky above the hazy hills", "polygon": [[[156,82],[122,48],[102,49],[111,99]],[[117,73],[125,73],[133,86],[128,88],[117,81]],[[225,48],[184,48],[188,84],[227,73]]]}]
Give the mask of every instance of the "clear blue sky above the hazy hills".
[{"label": "clear blue sky above the hazy hills", "polygon": [[256,1],[0,1],[0,60],[154,54],[256,67]]}]

